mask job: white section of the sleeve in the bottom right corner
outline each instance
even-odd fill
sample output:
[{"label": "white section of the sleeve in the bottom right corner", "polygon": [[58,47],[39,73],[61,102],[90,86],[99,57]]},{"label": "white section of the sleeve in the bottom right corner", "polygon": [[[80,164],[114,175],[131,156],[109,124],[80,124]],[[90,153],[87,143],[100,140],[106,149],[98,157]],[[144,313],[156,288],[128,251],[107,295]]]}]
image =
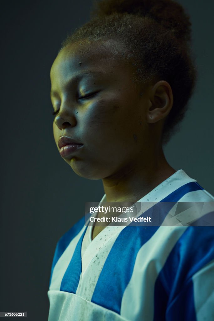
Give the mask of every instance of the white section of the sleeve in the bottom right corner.
[{"label": "white section of the sleeve in the bottom right corner", "polygon": [[192,279],[197,321],[214,320],[214,260]]}]

